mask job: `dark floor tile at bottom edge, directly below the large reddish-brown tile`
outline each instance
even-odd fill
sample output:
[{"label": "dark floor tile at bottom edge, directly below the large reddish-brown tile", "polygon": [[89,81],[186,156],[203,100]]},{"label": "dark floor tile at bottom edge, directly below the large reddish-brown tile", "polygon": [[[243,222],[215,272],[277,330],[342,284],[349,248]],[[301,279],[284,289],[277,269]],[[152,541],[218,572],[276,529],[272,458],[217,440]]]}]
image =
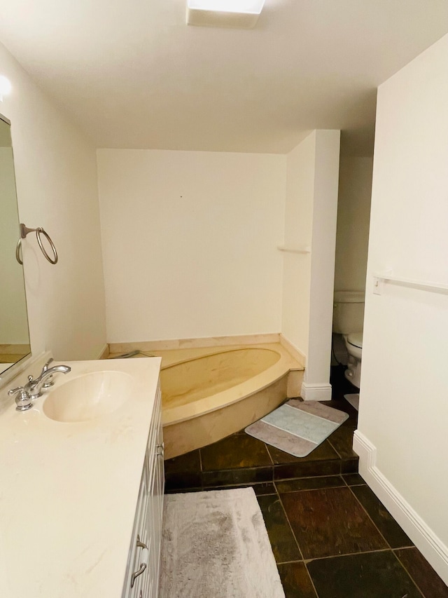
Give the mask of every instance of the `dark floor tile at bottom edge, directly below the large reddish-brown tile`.
[{"label": "dark floor tile at bottom edge, directly below the large reddish-brown tile", "polygon": [[319,598],[421,598],[391,550],[307,563]]}]

